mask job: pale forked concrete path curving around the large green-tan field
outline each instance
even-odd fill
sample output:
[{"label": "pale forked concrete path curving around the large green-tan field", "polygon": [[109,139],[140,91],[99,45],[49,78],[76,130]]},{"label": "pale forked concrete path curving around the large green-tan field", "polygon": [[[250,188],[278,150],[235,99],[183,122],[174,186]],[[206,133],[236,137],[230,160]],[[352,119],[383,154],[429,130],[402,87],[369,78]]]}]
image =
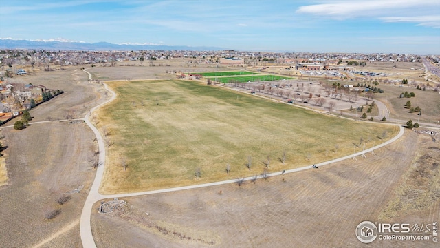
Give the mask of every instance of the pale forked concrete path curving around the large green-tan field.
[{"label": "pale forked concrete path curving around the large green-tan field", "polygon": [[[87,72],[85,70],[85,72]],[[91,74],[89,72],[87,72],[89,74],[89,79],[91,80]],[[101,103],[100,105],[94,107],[84,118],[85,122],[87,123],[87,125],[89,125],[89,127],[91,128],[91,130],[94,132],[94,134],[96,135],[96,140],[98,141],[98,147],[99,147],[99,165],[97,170],[96,170],[96,176],[94,179],[94,183],[91,186],[91,189],[89,191],[89,195],[87,196],[87,199],[85,201],[84,207],[83,207],[83,212],[81,213],[81,218],[80,218],[80,236],[81,236],[81,240],[83,242],[83,247],[87,247],[87,248],[93,248],[96,247],[96,243],[94,241],[94,237],[93,234],[91,233],[91,211],[92,211],[92,207],[94,205],[94,203],[98,202],[99,200],[105,199],[105,198],[120,198],[120,197],[129,197],[129,196],[144,196],[147,194],[159,194],[159,193],[164,193],[164,192],[175,192],[175,191],[181,191],[181,190],[185,190],[185,189],[197,189],[200,187],[210,187],[210,186],[214,186],[214,185],[223,185],[223,184],[228,184],[228,183],[236,183],[236,179],[233,180],[223,180],[220,182],[214,182],[214,183],[204,183],[201,185],[191,185],[191,186],[184,186],[184,187],[174,187],[174,188],[168,188],[168,189],[157,189],[157,190],[153,190],[153,191],[146,191],[146,192],[135,192],[135,193],[126,193],[126,194],[111,194],[111,195],[102,195],[98,192],[101,180],[102,180],[102,175],[104,172],[104,165],[105,165],[105,146],[104,146],[104,140],[100,134],[100,132],[98,131],[98,129],[91,124],[91,122],[89,121],[89,115],[91,114],[91,112],[94,112],[96,109],[98,109],[98,107],[101,107],[104,104],[109,103],[110,101],[113,101],[113,99],[115,99],[115,92],[111,91],[107,85],[104,83],[104,87],[106,88],[106,90],[108,90],[109,92],[111,92],[112,96],[111,99],[109,99],[109,101],[105,102],[105,103]],[[356,156],[362,156],[362,154],[368,154],[369,152],[373,152],[374,149],[383,147],[385,145],[388,145],[390,143],[393,143],[394,141],[396,141],[398,138],[400,138],[402,135],[404,134],[404,127],[400,126],[400,131],[399,134],[397,134],[397,136],[391,138],[391,140],[386,141],[385,143],[382,143],[380,145],[377,145],[375,147],[372,147],[370,149],[366,149],[362,152],[357,152],[355,154],[349,155],[349,156],[344,156],[342,158],[336,158],[333,159],[332,161],[327,161],[327,162],[323,162],[323,163],[318,163],[316,164],[318,167],[322,167],[325,165],[330,165],[331,163],[335,163],[335,162],[339,162],[339,161],[343,161],[349,158],[355,158]],[[300,167],[300,168],[296,168],[296,169],[287,169],[285,170],[284,173],[294,173],[294,172],[300,172],[303,171],[305,169],[313,169],[311,167],[311,165],[309,166],[305,166],[305,167]],[[267,174],[267,176],[279,176],[283,174],[283,172],[274,172],[271,174]],[[244,180],[251,180],[252,177],[248,177],[248,178],[244,178]],[[263,176],[258,176],[257,178],[263,178]]]}]

